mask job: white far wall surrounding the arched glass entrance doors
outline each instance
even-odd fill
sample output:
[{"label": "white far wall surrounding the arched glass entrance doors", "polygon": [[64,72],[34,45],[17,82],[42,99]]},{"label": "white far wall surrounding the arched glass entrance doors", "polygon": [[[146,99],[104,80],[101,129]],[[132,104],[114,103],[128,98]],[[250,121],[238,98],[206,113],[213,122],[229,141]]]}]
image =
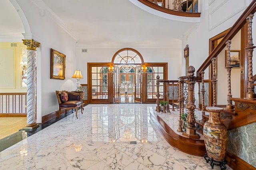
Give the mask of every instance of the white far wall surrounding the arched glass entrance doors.
[{"label": "white far wall surrounding the arched glass entrance doors", "polygon": [[[81,84],[87,84],[87,63],[111,63],[114,54],[125,47],[120,48],[77,48],[77,68],[81,70],[83,79]],[[181,49],[176,48],[141,48],[131,47],[137,50],[143,57],[144,63],[168,63],[168,80],[177,80],[181,75]],[[87,49],[87,53],[82,53]]]}]

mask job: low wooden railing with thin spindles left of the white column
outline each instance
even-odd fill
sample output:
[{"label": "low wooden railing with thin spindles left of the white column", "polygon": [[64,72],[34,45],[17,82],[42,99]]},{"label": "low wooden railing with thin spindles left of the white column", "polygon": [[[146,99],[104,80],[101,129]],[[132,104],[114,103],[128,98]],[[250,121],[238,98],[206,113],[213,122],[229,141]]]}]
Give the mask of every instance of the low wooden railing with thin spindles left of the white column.
[{"label": "low wooden railing with thin spindles left of the white column", "polygon": [[0,93],[0,116],[19,116],[27,113],[27,93]]}]

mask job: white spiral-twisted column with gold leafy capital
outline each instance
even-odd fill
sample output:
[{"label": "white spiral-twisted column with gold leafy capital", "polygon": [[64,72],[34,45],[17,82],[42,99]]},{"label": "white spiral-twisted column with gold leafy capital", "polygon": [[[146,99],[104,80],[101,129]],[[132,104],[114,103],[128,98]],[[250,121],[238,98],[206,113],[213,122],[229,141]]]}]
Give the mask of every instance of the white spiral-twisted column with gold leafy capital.
[{"label": "white spiral-twisted column with gold leafy capital", "polygon": [[26,127],[35,127],[36,124],[36,47],[40,43],[33,39],[22,39],[28,50],[27,71],[27,124]]}]

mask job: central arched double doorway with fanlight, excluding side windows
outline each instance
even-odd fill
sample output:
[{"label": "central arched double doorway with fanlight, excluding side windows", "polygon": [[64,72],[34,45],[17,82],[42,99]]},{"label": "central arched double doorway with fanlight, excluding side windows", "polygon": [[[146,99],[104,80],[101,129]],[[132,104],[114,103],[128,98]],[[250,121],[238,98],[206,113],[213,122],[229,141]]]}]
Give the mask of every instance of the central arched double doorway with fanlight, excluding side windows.
[{"label": "central arched double doorway with fanlight, excluding side windows", "polygon": [[114,73],[114,102],[142,102],[141,54],[131,48],[120,49],[112,63],[118,70]]}]

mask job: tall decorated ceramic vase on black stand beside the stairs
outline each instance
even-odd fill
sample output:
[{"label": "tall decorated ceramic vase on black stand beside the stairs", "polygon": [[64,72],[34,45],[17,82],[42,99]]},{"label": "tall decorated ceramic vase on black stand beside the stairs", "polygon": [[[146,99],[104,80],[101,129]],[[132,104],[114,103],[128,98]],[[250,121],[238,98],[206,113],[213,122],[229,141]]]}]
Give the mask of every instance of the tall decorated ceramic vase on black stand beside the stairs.
[{"label": "tall decorated ceramic vase on black stand beside the stairs", "polygon": [[220,107],[206,107],[209,111],[209,120],[204,123],[204,143],[209,158],[222,162],[225,159],[228,130],[226,126],[220,122]]}]

